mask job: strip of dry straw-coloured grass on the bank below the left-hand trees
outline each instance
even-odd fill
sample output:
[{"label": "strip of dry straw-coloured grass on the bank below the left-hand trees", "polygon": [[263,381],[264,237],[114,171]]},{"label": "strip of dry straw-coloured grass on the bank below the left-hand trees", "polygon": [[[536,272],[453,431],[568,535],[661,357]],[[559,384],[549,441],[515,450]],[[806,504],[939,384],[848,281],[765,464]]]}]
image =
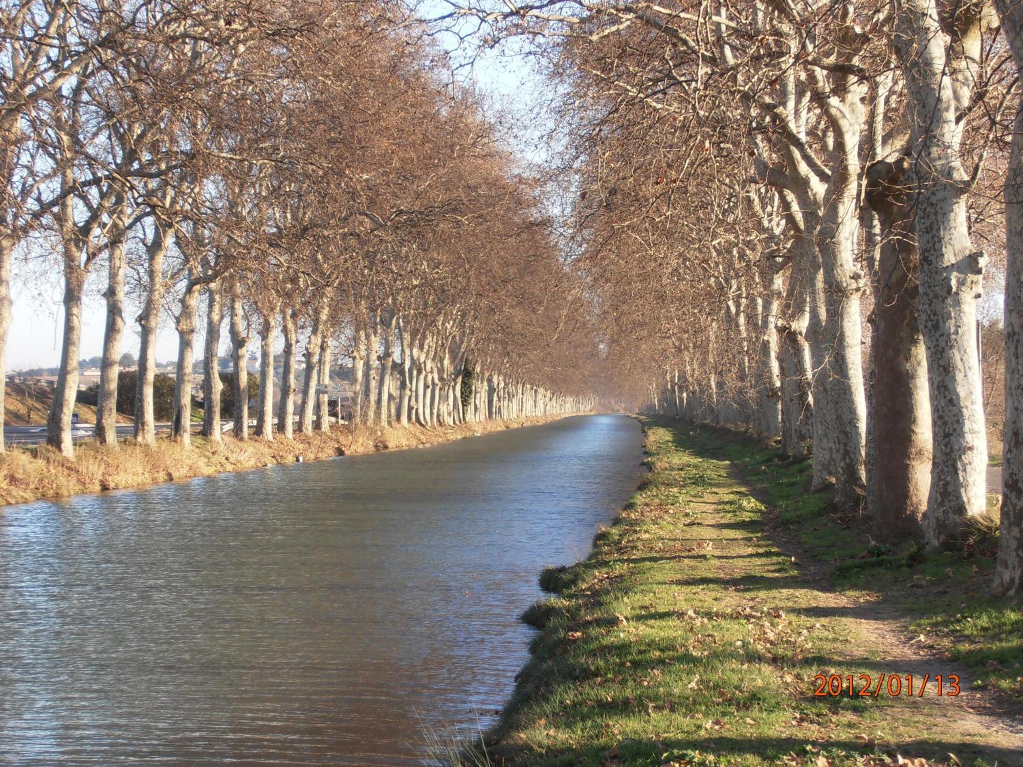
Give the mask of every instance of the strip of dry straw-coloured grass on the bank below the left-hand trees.
[{"label": "strip of dry straw-coloured grass on the bank below the left-hand trees", "polygon": [[252,438],[240,442],[225,436],[223,443],[218,445],[193,437],[190,448],[165,439],[151,447],[129,440],[113,450],[95,443],[82,443],[76,447],[74,459],[64,458],[46,446],[15,448],[0,455],[0,503],[24,503],[101,490],[140,488],[222,471],[294,463],[299,456],[313,461],[343,454],[419,447],[545,420],[551,418],[487,421],[435,428],[416,425],[407,428],[362,428],[354,433],[347,426],[335,426],[328,434],[300,434],[294,440],[278,436],[269,443]]}]

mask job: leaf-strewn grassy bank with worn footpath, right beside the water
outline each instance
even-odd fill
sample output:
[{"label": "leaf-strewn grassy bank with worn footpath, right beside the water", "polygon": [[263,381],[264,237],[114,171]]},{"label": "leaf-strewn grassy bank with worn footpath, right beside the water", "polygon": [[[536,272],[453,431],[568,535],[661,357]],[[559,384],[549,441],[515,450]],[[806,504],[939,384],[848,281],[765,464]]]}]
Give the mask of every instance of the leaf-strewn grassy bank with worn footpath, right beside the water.
[{"label": "leaf-strewn grassy bank with worn footpath, right beside the water", "polygon": [[[919,687],[925,673],[957,669],[905,640],[899,606],[880,603],[866,570],[846,569],[851,580],[829,587],[833,558],[860,559],[850,548],[858,539],[850,521],[827,513],[824,495],[805,492],[807,467],[723,433],[647,425],[651,473],[589,558],[544,573],[558,595],[528,612],[543,628],[476,761],[1023,763],[1023,738],[972,678],[955,697],[934,694],[933,681],[923,697],[815,696],[818,673],[913,673]],[[766,507],[737,466],[757,478]],[[819,567],[803,567],[780,526],[800,531]],[[939,565],[920,567],[903,583]]]}]

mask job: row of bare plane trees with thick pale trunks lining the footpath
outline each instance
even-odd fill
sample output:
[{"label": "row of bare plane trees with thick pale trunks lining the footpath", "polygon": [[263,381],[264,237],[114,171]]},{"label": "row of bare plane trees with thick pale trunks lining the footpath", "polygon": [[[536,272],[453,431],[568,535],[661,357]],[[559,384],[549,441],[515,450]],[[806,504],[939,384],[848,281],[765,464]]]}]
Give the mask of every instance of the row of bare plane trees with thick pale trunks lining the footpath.
[{"label": "row of bare plane trees with thick pale trunks lining the footpath", "polygon": [[809,456],[811,489],[882,540],[957,546],[985,511],[978,319],[1004,290],[992,587],[1018,593],[1023,6],[450,5],[438,24],[528,41],[559,86],[574,264],[622,404]]}]

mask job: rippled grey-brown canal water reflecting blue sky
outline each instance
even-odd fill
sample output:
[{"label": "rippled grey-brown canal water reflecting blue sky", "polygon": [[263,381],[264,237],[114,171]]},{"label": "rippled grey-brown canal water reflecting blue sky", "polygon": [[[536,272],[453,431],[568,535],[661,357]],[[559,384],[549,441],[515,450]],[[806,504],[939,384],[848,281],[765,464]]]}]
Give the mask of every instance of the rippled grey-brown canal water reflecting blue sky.
[{"label": "rippled grey-brown canal water reflecting blue sky", "polygon": [[0,509],[0,763],[415,764],[485,729],[638,423]]}]

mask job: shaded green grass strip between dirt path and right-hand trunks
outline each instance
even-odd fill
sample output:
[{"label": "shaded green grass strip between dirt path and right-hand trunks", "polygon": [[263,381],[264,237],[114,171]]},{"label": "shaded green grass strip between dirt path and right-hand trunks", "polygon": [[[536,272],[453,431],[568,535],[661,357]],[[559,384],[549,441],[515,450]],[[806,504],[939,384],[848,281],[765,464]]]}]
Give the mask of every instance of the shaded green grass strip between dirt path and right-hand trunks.
[{"label": "shaded green grass strip between dirt path and right-hand trunks", "polygon": [[829,491],[807,492],[809,461],[732,433],[702,430],[694,450],[730,461],[777,514],[783,529],[846,592],[880,596],[904,614],[913,633],[949,652],[991,686],[1023,698],[1023,612],[988,593],[997,550],[997,497],[970,526],[959,551],[925,553],[913,542],[888,545],[862,516],[835,512]]}]

